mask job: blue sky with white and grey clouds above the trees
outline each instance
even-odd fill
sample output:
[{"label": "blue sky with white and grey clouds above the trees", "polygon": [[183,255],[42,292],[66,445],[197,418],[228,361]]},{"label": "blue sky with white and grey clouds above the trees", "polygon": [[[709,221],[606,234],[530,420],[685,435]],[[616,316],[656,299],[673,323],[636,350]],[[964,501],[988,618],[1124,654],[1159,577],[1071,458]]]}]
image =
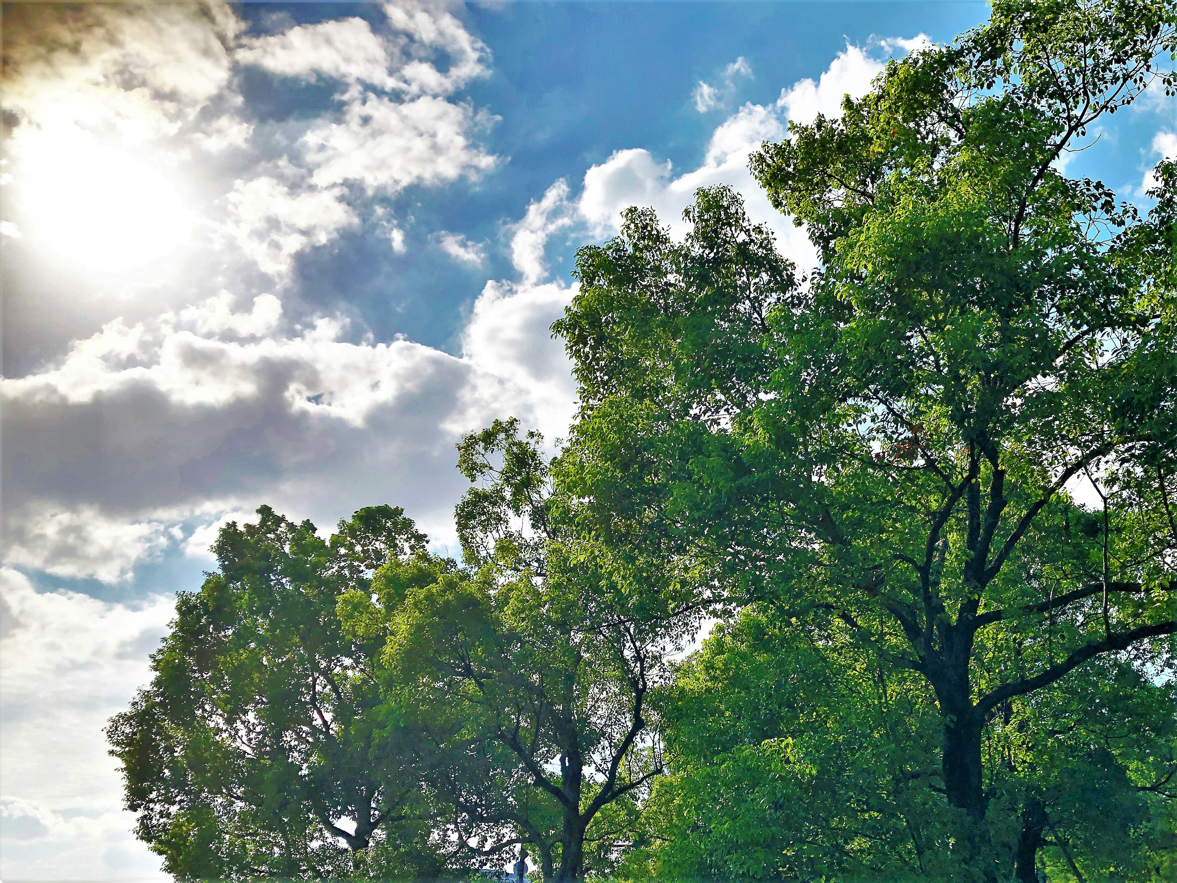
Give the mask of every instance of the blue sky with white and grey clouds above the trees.
[{"label": "blue sky with white and grey clouds above the trees", "polygon": [[[982,2],[6,5],[0,878],[162,879],[101,733],[261,504],[399,505],[455,552],[454,444],[576,387],[548,326],[630,205],[681,233],[789,120]],[[1149,93],[1066,173],[1146,205]]]}]

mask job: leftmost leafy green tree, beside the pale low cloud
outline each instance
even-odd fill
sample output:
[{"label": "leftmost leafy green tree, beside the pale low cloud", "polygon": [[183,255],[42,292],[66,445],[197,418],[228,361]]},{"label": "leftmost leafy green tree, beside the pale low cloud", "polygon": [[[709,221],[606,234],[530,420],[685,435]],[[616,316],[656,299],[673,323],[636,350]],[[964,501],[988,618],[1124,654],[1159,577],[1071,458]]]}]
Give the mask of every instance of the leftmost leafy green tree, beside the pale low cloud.
[{"label": "leftmost leafy green tree, beside the pale low cloud", "polygon": [[258,516],[221,529],[218,572],[178,595],[151,685],[107,729],[137,835],[178,879],[441,875],[435,808],[377,715],[379,648],[335,615],[425,537],[388,506],[326,542]]}]

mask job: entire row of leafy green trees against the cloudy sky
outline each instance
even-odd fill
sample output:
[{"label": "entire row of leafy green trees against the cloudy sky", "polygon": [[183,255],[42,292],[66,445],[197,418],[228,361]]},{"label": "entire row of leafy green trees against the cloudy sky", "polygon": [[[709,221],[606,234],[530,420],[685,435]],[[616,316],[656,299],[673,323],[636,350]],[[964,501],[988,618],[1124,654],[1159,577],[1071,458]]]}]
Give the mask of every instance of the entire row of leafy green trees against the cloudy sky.
[{"label": "entire row of leafy green trees against the cloudy sky", "polygon": [[1004,0],[891,62],[752,159],[807,274],[729,190],[626,212],[553,326],[567,444],[459,446],[460,565],[390,507],[224,529],[109,728],[139,836],[184,879],[1177,874],[1177,165],[1146,214],[1060,171],[1175,44]]}]

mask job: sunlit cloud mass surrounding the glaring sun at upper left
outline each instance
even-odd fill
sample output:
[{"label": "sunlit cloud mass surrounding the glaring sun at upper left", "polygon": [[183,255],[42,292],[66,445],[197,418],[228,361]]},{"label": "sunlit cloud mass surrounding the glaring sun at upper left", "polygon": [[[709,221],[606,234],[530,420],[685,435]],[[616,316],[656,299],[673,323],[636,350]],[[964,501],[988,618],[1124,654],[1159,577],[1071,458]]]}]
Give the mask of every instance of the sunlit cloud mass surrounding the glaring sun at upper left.
[{"label": "sunlit cloud mass surrounding the glaring sun at upper left", "polygon": [[[358,195],[492,168],[478,137],[493,118],[451,99],[485,74],[486,47],[440,4],[384,13],[253,38],[215,0],[14,11],[5,230],[112,280],[182,252],[280,284],[298,253],[357,227]],[[242,67],[338,89],[317,115],[258,121]]]}]

